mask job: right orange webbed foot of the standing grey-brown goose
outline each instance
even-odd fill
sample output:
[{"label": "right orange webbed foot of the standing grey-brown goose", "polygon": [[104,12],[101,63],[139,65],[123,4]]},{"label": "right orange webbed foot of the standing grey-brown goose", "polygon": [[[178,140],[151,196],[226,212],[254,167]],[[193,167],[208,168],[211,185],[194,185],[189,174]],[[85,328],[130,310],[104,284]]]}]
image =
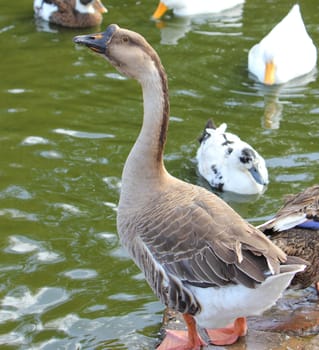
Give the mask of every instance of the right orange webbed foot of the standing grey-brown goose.
[{"label": "right orange webbed foot of the standing grey-brown goose", "polygon": [[247,333],[246,318],[239,317],[225,328],[206,329],[210,342],[214,345],[230,345],[236,343],[239,337]]}]

